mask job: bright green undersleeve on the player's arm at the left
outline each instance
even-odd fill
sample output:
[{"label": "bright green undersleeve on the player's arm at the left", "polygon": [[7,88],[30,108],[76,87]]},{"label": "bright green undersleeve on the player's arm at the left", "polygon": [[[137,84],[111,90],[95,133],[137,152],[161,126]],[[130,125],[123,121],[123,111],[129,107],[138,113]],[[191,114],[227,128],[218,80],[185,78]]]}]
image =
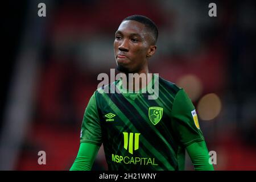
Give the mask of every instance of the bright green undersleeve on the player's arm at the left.
[{"label": "bright green undersleeve on the player's arm at the left", "polygon": [[70,171],[90,171],[100,146],[92,143],[81,143]]}]

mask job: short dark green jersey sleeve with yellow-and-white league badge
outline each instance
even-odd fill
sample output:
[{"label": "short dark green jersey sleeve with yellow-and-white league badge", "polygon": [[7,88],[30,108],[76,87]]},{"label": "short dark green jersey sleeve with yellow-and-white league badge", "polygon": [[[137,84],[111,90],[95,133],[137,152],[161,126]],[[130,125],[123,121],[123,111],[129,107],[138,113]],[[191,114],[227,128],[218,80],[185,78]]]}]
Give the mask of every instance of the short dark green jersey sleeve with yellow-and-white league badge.
[{"label": "short dark green jersey sleeve with yellow-and-white league badge", "polygon": [[184,147],[204,140],[195,107],[183,89],[180,89],[174,98],[171,126],[176,139]]}]

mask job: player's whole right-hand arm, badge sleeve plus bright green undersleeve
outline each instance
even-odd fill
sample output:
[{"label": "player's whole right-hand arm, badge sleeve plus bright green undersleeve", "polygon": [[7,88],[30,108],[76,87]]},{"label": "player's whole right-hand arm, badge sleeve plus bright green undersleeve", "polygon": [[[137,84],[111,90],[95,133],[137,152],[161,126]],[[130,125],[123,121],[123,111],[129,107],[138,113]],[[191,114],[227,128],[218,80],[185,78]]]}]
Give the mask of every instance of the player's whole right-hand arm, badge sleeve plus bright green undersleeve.
[{"label": "player's whole right-hand arm, badge sleeve plus bright green undersleeve", "polygon": [[174,98],[172,128],[176,138],[186,148],[195,169],[213,170],[195,107],[183,89]]}]

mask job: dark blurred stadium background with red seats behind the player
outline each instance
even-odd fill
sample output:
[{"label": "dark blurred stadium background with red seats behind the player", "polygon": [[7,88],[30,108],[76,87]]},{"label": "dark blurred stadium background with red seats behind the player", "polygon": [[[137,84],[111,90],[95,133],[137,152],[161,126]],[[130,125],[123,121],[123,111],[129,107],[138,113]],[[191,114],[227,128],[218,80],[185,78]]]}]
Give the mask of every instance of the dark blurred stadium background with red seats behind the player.
[{"label": "dark blurred stadium background with red seats behind the player", "polygon": [[[46,17],[38,4],[46,4]],[[209,17],[209,3],[217,17]],[[99,73],[115,68],[123,18],[159,27],[150,70],[175,82],[197,109],[216,170],[256,169],[255,2],[10,1],[1,13],[1,170],[69,170]],[[38,151],[46,151],[46,165]],[[193,170],[187,157],[186,169]],[[94,170],[105,170],[104,150]]]}]

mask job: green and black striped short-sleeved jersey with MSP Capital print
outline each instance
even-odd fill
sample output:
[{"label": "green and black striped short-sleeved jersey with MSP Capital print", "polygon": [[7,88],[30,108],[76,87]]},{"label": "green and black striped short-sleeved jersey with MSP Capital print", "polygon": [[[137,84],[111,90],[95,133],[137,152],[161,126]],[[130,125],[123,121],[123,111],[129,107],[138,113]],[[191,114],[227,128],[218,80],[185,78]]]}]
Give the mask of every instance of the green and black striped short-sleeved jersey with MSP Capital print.
[{"label": "green and black striped short-sleeved jersey with MSP Capital print", "polygon": [[[158,79],[156,79],[158,78]],[[182,88],[154,75],[159,93],[94,92],[85,109],[80,142],[103,143],[109,170],[184,170],[185,147],[204,140],[195,107]],[[113,88],[108,85],[108,90]]]}]

